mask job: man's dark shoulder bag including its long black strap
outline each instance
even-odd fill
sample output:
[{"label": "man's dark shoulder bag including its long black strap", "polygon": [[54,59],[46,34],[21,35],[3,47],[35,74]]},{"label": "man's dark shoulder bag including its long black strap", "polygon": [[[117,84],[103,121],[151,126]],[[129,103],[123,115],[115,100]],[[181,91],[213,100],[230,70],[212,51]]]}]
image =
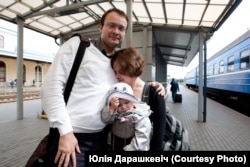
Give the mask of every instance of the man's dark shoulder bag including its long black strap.
[{"label": "man's dark shoulder bag including its long black strap", "polygon": [[[85,53],[86,47],[90,45],[88,38],[80,34],[75,34],[74,36],[79,36],[81,42],[79,44],[77,54],[69,74],[69,78],[64,91],[64,101],[67,103],[70,92],[72,90],[77,71],[79,69],[80,63]],[[52,132],[52,133],[51,133]],[[47,167],[49,162],[49,147],[53,146],[52,140],[59,141],[59,134],[55,136],[52,128],[50,128],[50,133],[46,135],[38,144],[31,157],[28,159],[25,167]],[[55,146],[57,147],[57,146]]]}]

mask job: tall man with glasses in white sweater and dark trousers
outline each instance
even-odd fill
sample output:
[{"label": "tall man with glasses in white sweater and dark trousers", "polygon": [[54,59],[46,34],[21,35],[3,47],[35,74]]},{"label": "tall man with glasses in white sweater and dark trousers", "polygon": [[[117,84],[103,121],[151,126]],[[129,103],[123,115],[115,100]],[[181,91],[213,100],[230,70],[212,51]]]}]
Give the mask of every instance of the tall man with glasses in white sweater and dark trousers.
[{"label": "tall man with glasses in white sweater and dark trousers", "polygon": [[51,166],[85,166],[85,151],[104,148],[102,130],[106,124],[101,121],[101,109],[108,90],[117,82],[110,57],[124,40],[127,27],[128,17],[123,11],[110,9],[104,13],[100,39],[86,48],[67,105],[63,90],[80,38],[69,39],[58,50],[42,86],[43,109],[51,129],[60,136]]}]

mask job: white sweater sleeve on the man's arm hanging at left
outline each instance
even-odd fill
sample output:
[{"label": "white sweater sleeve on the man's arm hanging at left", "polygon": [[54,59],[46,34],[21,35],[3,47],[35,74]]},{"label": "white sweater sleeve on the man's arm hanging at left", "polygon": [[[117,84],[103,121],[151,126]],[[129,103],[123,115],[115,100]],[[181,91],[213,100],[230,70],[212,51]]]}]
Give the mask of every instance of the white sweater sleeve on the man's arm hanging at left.
[{"label": "white sweater sleeve on the man's arm hanging at left", "polygon": [[59,48],[41,89],[42,106],[50,127],[58,128],[60,135],[73,131],[63,92],[79,43],[79,37],[73,37]]}]

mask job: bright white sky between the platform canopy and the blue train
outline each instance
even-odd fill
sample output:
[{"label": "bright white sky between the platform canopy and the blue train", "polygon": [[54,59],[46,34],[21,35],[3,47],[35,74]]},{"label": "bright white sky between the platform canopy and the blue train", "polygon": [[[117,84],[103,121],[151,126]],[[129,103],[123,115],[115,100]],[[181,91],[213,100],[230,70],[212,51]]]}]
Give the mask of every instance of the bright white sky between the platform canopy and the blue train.
[{"label": "bright white sky between the platform canopy and the blue train", "polygon": [[[207,41],[207,58],[223,49],[236,38],[250,29],[250,0],[242,0],[230,17],[214,32]],[[196,55],[188,67],[168,65],[168,75],[174,78],[184,78],[188,71],[198,65],[199,55]]]}]

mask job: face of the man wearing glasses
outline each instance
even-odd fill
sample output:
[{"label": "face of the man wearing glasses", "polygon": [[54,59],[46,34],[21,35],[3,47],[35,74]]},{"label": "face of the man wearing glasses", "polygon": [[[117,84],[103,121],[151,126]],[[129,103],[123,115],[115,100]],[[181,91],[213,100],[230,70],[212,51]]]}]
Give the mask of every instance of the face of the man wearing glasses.
[{"label": "face of the man wearing glasses", "polygon": [[101,41],[107,53],[113,52],[123,42],[127,25],[126,18],[116,12],[106,16],[104,25],[100,25],[100,32]]}]

